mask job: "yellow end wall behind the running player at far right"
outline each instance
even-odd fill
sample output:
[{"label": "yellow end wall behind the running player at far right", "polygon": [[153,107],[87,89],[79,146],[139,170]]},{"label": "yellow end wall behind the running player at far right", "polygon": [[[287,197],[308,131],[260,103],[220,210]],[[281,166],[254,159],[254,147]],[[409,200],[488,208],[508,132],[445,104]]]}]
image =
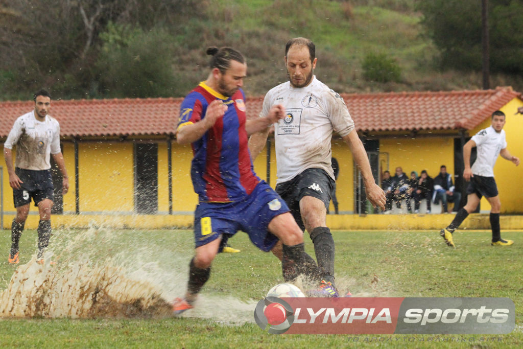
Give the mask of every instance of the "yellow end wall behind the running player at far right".
[{"label": "yellow end wall behind the running player at far right", "polygon": [[[523,134],[523,115],[514,115],[517,108],[521,106],[523,106],[521,99],[514,98],[500,110],[503,111],[506,116],[506,123],[503,129],[506,133],[507,150],[511,155],[517,156],[523,161],[523,141],[521,141],[521,134]],[[491,124],[491,118],[489,117],[483,121],[481,125],[470,130],[470,136],[491,126]],[[523,199],[521,198],[521,193],[523,193],[521,190],[521,188],[523,188],[523,164],[516,167],[512,162],[499,156],[494,166],[494,178],[496,179],[499,199],[501,199],[501,212],[521,213],[523,204]],[[490,204],[488,204],[485,198],[481,199],[480,209],[482,212],[487,212],[491,209]]]}]

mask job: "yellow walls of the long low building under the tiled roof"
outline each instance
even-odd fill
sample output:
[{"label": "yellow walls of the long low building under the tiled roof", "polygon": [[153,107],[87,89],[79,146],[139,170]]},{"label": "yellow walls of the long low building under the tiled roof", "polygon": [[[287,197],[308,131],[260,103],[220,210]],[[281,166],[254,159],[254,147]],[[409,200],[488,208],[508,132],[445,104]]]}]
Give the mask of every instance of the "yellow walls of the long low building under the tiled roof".
[{"label": "yellow walls of the long low building under the tiled roof", "polygon": [[[508,150],[523,160],[523,116],[514,115],[523,102],[515,98],[502,108],[507,115],[505,132]],[[490,118],[469,133],[488,127]],[[74,146],[63,143],[65,165],[70,177],[70,192],[64,196],[64,212],[75,211],[74,188]],[[172,143],[173,163],[173,211],[174,213],[191,214],[198,197],[194,193],[190,179],[190,162],[192,150],[190,145]],[[341,139],[332,142],[333,156],[338,159],[340,173],[337,181],[337,198],[340,212],[354,211],[354,165],[353,157],[347,145]],[[402,166],[405,173],[416,171],[418,174],[426,169],[431,177],[439,172],[439,166],[447,165],[450,173],[454,171],[454,145],[451,138],[386,138],[380,140],[380,152],[389,154],[389,170],[394,174],[396,166]],[[258,176],[266,179],[266,149],[254,163]],[[386,170],[386,157],[380,156],[381,171]],[[2,155],[2,165],[4,159]],[[79,143],[79,188],[80,211],[86,212],[134,212],[134,171],[133,143],[131,142],[81,142]],[[274,139],[271,145],[270,186],[276,186],[276,154]],[[499,194],[502,199],[502,212],[519,212],[523,200],[523,164],[514,164],[499,159],[494,168]],[[508,185],[510,183],[511,185]],[[517,190],[515,190],[517,188]],[[481,202],[482,211],[490,210],[486,200]],[[4,166],[4,210],[14,211],[13,195],[9,187],[9,178]],[[33,208],[31,208],[34,211]],[[331,204],[331,210],[334,207]],[[158,211],[168,211],[168,178],[167,178],[167,145],[158,143]]]}]

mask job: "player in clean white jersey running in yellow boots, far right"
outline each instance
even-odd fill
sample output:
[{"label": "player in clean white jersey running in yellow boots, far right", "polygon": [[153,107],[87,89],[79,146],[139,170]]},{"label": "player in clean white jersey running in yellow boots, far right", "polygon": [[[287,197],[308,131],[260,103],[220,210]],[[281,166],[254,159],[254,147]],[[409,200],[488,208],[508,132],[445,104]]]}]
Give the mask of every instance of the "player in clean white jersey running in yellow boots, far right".
[{"label": "player in clean white jersey running in yellow boots, far right", "polygon": [[[467,205],[461,208],[450,225],[440,231],[440,235],[445,239],[447,245],[454,247],[452,234],[461,222],[467,218],[469,213],[475,211],[479,205],[481,197],[484,196],[491,205],[490,223],[492,229],[493,246],[508,246],[514,243],[512,240],[503,240],[499,227],[499,212],[501,211],[501,201],[497,192],[496,181],[494,180],[494,164],[497,156],[501,155],[503,159],[519,165],[519,158],[507,150],[507,141],[505,140],[505,114],[503,111],[496,110],[492,113],[492,125],[477,132],[463,146],[463,161],[465,170],[463,178],[470,181],[467,187]],[[476,161],[470,167],[470,153],[472,148],[477,147]]]}]

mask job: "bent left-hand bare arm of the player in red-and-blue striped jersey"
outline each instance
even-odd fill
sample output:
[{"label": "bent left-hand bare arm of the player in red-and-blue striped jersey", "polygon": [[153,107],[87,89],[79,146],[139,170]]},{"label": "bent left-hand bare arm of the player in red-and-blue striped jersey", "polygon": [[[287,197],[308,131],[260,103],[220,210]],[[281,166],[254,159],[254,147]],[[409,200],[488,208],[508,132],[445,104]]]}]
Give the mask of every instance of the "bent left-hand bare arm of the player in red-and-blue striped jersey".
[{"label": "bent left-hand bare arm of the player in red-and-blue striped jersey", "polygon": [[201,121],[178,128],[176,141],[178,144],[188,144],[199,140],[207,130],[214,126],[219,118],[225,115],[226,110],[227,106],[221,100],[213,100],[207,107],[205,117]]}]

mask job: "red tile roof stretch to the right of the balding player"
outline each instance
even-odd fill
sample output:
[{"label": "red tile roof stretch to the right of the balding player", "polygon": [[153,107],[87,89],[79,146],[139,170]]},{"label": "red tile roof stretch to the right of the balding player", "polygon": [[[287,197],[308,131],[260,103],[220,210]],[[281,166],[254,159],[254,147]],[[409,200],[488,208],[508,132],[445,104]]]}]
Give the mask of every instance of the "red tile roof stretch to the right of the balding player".
[{"label": "red tile roof stretch to the right of the balding player", "polygon": [[358,131],[473,129],[521,94],[511,87],[476,91],[343,95]]}]

